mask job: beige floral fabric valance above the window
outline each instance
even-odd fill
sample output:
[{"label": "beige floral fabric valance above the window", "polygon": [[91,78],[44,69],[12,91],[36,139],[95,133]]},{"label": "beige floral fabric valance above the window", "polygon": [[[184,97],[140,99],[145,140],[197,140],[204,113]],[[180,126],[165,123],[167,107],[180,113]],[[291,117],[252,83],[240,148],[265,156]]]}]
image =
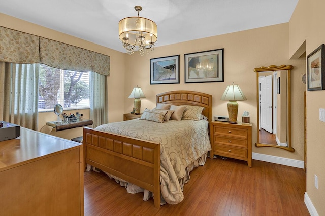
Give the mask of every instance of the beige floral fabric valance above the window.
[{"label": "beige floral fabric valance above the window", "polygon": [[110,75],[110,57],[55,40],[0,26],[0,61]]}]

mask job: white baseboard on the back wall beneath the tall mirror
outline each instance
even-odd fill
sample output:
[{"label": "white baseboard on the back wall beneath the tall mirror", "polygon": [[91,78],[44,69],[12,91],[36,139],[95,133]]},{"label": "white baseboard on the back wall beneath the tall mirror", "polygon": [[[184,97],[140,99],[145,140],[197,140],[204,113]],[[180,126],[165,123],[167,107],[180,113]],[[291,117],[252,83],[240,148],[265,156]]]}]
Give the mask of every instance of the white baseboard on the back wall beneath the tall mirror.
[{"label": "white baseboard on the back wall beneath the tall mirror", "polygon": [[259,153],[254,153],[254,152],[252,153],[252,159],[286,165],[286,166],[293,166],[293,167],[302,168],[302,169],[305,166],[304,161],[302,161],[302,160],[295,160],[295,159],[290,159],[290,158],[285,158],[285,157],[277,157],[277,156],[272,156],[272,155],[267,155],[267,154],[259,154]]}]

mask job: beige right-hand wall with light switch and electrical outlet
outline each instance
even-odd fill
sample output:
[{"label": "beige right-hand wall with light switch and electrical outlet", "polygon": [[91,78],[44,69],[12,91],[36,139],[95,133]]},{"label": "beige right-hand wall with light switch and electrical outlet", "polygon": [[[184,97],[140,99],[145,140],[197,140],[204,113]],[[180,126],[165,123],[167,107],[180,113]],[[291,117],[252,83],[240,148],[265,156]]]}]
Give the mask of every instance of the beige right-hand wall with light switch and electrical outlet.
[{"label": "beige right-hand wall with light switch and electrical outlet", "polygon": [[[306,41],[308,56],[325,44],[325,15],[323,0],[299,0],[290,19],[290,54]],[[325,91],[307,91],[307,194],[319,215],[325,215],[325,123],[319,121],[319,108],[325,108]],[[318,190],[314,175],[318,176]]]}]

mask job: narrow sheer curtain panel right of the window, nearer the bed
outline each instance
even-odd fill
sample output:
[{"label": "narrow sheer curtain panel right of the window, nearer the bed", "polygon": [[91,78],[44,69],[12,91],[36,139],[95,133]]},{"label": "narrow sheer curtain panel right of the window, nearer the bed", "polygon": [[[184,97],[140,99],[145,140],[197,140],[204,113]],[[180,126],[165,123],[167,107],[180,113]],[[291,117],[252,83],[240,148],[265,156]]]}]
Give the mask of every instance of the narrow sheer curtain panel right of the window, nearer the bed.
[{"label": "narrow sheer curtain panel right of the window, nearer the bed", "polygon": [[99,73],[90,73],[90,119],[93,128],[108,123],[106,76]]}]

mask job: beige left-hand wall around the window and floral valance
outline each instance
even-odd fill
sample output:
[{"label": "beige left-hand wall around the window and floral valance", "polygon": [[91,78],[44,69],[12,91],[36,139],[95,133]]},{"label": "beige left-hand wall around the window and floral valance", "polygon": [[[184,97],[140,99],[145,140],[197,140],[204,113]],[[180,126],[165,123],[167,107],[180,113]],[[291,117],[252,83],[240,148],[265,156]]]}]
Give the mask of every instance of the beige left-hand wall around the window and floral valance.
[{"label": "beige left-hand wall around the window and floral valance", "polygon": [[[107,77],[109,120],[110,121],[123,120],[122,113],[124,110],[124,100],[121,100],[121,98],[124,98],[124,65],[125,65],[124,56],[125,54],[2,13],[0,13],[0,26],[26,32],[29,34],[35,34],[45,38],[65,42],[67,44],[81,47],[87,50],[109,55],[111,57],[110,76]],[[76,113],[76,110],[71,112]],[[86,117],[87,115],[89,118],[89,110],[87,111]],[[46,124],[47,121],[55,121],[56,119],[57,117],[54,115],[54,113],[48,113],[48,112],[40,113],[39,127],[38,127],[39,131],[42,129],[42,127]],[[71,139],[73,137],[82,136],[82,128],[69,129],[67,131],[61,131],[54,134],[56,136]]]}]

